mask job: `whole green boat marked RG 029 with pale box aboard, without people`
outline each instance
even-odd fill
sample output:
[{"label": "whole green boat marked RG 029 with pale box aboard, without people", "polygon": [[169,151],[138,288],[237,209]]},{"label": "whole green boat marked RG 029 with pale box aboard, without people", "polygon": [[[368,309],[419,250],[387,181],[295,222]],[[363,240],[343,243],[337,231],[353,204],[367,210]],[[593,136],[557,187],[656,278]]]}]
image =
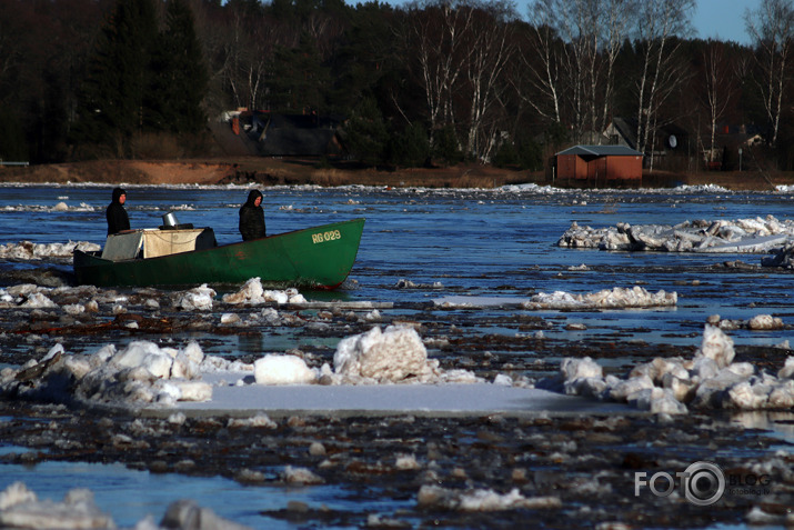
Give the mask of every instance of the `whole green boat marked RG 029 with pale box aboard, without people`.
[{"label": "whole green boat marked RG 029 with pale box aboard, without people", "polygon": [[[183,228],[187,227],[187,228]],[[102,251],[74,250],[78,283],[184,286],[240,283],[333,289],[350,274],[364,219],[218,246],[211,228],[132,230],[108,237]]]}]

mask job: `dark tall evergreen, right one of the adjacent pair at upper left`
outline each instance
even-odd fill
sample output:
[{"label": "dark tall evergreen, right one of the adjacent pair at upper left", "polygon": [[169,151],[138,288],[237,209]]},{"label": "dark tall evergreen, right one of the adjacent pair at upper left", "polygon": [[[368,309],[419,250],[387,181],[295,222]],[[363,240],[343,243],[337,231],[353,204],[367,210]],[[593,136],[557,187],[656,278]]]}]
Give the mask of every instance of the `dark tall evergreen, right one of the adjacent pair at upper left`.
[{"label": "dark tall evergreen, right one of the adjacent pair at upper left", "polygon": [[155,132],[199,132],[207,124],[201,102],[209,73],[185,0],[169,1],[165,29],[158,42],[152,54],[145,126]]}]

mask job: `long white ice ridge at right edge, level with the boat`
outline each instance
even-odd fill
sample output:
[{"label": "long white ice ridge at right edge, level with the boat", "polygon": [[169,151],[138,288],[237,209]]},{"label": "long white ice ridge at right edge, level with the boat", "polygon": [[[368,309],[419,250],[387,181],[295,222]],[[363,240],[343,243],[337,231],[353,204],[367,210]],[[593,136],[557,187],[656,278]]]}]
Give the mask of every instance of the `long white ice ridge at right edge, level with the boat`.
[{"label": "long white ice ridge at right edge, level with the boat", "polygon": [[557,246],[601,250],[653,250],[669,252],[761,253],[794,239],[794,221],[766,218],[733,221],[695,220],[679,224],[617,223],[609,228],[581,227],[575,221]]}]

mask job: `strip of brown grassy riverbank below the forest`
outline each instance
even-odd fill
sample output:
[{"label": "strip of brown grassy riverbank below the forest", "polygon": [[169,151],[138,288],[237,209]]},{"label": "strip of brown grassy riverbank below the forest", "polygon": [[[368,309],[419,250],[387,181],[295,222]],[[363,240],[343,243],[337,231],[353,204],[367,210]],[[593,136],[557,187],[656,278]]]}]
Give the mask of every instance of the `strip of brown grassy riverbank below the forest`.
[{"label": "strip of brown grassy riverbank below the forest", "polygon": [[[94,160],[0,168],[0,182],[125,183],[125,184],[229,184],[260,186],[346,184],[393,188],[499,188],[505,184],[560,186],[544,172],[520,171],[481,164],[452,168],[384,170],[350,163],[321,164],[316,160],[249,157],[207,160]],[[774,190],[794,186],[793,172],[711,171],[673,173],[645,171],[644,188],[713,184],[728,190]]]}]

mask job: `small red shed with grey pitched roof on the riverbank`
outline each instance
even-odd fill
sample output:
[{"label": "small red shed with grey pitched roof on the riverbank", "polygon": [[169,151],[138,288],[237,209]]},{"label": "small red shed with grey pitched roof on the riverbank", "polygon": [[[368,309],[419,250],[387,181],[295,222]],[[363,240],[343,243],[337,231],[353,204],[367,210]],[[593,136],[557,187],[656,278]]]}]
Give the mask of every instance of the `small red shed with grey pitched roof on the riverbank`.
[{"label": "small red shed with grey pitched roof on the riverbank", "polygon": [[626,146],[574,146],[556,153],[555,181],[592,188],[640,186],[642,157]]}]

